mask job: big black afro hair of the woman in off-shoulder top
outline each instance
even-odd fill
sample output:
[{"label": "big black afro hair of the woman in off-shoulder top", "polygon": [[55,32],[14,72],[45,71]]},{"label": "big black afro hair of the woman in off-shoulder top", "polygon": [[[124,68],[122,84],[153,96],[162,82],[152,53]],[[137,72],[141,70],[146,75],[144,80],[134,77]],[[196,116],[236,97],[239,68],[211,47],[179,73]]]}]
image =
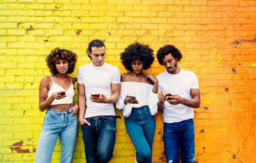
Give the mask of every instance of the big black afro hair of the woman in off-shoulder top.
[{"label": "big black afro hair of the woman in off-shoulder top", "polygon": [[148,45],[141,43],[132,43],[125,48],[124,52],[120,53],[120,58],[125,69],[132,70],[132,61],[140,59],[143,62],[143,69],[148,69],[154,61],[154,50]]}]

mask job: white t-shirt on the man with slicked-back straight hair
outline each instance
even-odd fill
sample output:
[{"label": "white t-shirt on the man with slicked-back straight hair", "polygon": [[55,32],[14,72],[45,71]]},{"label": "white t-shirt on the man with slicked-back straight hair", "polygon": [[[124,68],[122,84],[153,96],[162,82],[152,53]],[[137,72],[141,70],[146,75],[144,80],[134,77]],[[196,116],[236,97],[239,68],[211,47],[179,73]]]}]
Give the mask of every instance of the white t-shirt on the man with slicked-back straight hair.
[{"label": "white t-shirt on the man with slicked-back straight hair", "polygon": [[83,84],[86,96],[86,112],[84,118],[100,115],[115,115],[113,104],[93,103],[91,94],[104,94],[111,97],[111,83],[120,83],[120,71],[116,66],[104,62],[102,66],[85,64],[77,69],[77,83]]}]

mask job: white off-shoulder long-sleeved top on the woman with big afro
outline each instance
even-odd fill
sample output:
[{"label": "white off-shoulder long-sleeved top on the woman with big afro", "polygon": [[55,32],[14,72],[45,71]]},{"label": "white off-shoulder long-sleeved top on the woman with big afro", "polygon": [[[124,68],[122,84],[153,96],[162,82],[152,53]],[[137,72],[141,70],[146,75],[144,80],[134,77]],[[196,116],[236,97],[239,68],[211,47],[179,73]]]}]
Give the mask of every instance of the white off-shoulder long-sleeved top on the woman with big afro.
[{"label": "white off-shoulder long-sleeved top on the woman with big afro", "polygon": [[[157,94],[154,94],[152,90],[154,85],[148,83],[141,83],[135,81],[121,82],[121,92],[119,99],[116,103],[116,108],[123,110],[124,117],[131,115],[132,108],[140,108],[142,106],[148,106],[151,115],[157,113]],[[135,96],[138,104],[124,104],[126,96]]]}]

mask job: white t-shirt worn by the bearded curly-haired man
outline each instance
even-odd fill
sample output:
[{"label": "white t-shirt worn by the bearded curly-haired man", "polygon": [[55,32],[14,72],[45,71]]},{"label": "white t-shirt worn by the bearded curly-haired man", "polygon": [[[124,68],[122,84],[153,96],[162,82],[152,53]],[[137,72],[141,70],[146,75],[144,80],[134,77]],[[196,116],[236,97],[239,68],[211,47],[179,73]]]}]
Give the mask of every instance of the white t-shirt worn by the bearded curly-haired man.
[{"label": "white t-shirt worn by the bearded curly-haired man", "polygon": [[[191,89],[199,89],[196,74],[185,69],[180,69],[178,74],[170,74],[164,71],[156,78],[159,91],[173,95],[177,94],[186,99],[191,99]],[[164,101],[163,117],[166,123],[181,122],[194,118],[194,111],[193,108],[184,104],[172,105],[168,101]]]}]

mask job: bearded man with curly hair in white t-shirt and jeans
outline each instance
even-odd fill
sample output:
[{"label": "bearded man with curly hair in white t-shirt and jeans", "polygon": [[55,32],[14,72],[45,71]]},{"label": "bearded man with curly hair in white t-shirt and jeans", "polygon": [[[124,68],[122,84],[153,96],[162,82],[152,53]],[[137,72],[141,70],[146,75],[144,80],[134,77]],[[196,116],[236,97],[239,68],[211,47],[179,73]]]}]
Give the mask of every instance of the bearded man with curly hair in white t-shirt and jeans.
[{"label": "bearded man with curly hair in white t-shirt and jeans", "polygon": [[182,54],[173,45],[164,45],[157,51],[159,64],[166,67],[166,71],[156,76],[161,91],[157,106],[163,110],[166,161],[173,163],[179,162],[179,150],[181,162],[194,162],[193,108],[200,107],[196,74],[178,66],[181,58]]}]

